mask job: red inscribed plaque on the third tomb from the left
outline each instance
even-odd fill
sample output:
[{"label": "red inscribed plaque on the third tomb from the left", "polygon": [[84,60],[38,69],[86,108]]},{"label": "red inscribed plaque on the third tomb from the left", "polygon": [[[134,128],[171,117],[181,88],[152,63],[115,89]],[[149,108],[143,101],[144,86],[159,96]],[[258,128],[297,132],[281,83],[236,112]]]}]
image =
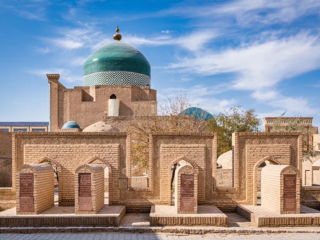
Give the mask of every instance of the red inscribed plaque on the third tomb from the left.
[{"label": "red inscribed plaque on the third tomb from the left", "polygon": [[180,211],[193,212],[195,211],[194,176],[193,174],[181,174],[180,180]]}]

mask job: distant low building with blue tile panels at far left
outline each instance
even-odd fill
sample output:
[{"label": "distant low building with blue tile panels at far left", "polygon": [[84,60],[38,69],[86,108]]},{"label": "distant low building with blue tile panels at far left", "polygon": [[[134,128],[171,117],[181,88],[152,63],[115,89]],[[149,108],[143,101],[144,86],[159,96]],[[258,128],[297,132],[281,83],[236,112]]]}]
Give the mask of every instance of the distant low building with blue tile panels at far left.
[{"label": "distant low building with blue tile panels at far left", "polygon": [[48,132],[49,122],[0,122],[0,131]]}]

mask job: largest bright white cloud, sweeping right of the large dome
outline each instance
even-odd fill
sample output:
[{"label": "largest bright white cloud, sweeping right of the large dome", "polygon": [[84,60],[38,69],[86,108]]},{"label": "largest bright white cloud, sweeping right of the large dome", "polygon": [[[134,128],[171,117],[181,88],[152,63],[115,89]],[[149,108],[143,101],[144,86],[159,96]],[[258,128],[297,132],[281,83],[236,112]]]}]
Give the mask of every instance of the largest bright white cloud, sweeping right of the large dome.
[{"label": "largest bright white cloud, sweeping right of the large dome", "polygon": [[215,75],[235,73],[230,88],[260,90],[279,81],[320,67],[318,36],[300,33],[265,43],[241,45],[223,52],[196,52],[164,68],[181,72]]}]

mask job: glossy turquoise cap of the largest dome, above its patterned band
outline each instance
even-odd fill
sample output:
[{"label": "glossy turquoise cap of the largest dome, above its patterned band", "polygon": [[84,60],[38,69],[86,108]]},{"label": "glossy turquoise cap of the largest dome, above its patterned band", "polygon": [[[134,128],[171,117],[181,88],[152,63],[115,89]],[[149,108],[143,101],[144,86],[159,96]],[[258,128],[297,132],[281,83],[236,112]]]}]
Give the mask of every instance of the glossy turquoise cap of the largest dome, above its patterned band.
[{"label": "glossy turquoise cap of the largest dome, above its patterned band", "polygon": [[129,44],[117,40],[98,48],[84,62],[84,76],[105,71],[125,71],[151,76],[150,63],[146,57]]}]

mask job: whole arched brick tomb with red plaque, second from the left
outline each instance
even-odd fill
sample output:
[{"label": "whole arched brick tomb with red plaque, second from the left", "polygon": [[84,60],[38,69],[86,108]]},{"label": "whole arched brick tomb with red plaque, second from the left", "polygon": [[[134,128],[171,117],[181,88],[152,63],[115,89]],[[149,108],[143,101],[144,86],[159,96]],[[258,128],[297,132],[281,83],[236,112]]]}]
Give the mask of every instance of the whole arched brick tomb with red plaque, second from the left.
[{"label": "whole arched brick tomb with red plaque, second from the left", "polygon": [[75,172],[75,214],[96,214],[104,207],[104,169],[83,164]]}]

